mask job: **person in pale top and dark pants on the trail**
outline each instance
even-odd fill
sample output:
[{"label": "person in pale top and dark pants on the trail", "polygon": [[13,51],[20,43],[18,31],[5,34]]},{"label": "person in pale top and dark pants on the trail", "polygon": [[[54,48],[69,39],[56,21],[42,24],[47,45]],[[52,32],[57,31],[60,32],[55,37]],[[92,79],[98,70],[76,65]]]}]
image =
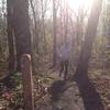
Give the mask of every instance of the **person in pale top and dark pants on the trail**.
[{"label": "person in pale top and dark pants on the trail", "polygon": [[67,79],[67,74],[68,74],[68,64],[69,64],[69,58],[70,58],[70,45],[69,43],[66,43],[62,45],[58,52],[58,57],[59,57],[59,77],[62,76],[64,72],[64,79]]}]

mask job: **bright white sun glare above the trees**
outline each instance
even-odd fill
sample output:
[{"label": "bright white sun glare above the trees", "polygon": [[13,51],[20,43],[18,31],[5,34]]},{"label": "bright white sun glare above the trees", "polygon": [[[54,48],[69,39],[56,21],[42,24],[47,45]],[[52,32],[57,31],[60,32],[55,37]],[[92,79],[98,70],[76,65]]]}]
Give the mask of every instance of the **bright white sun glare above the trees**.
[{"label": "bright white sun glare above the trees", "polygon": [[90,9],[94,0],[67,0],[70,9],[78,10],[79,7],[85,8],[86,10]]}]

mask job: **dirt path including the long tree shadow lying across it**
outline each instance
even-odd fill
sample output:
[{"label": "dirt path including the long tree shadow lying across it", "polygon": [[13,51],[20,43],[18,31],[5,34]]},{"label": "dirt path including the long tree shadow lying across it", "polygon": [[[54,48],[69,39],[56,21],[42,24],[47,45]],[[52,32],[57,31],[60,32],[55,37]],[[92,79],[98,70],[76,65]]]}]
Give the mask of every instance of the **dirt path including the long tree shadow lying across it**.
[{"label": "dirt path including the long tree shadow lying across it", "polygon": [[35,110],[109,110],[105,109],[102,99],[95,84],[87,77],[67,81],[72,85],[58,101],[52,102],[50,96],[38,101]]}]

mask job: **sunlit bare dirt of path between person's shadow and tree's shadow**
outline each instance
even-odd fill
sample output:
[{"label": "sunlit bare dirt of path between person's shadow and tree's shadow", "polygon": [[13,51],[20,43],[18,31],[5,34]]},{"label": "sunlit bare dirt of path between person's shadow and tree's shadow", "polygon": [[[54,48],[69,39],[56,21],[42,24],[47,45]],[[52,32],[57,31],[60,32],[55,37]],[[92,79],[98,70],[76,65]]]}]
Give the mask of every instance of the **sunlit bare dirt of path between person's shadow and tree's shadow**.
[{"label": "sunlit bare dirt of path between person's shadow and tree's shadow", "polygon": [[85,110],[76,82],[67,82],[66,86],[68,89],[61,95],[58,101],[52,101],[47,95],[38,101],[35,110]]}]

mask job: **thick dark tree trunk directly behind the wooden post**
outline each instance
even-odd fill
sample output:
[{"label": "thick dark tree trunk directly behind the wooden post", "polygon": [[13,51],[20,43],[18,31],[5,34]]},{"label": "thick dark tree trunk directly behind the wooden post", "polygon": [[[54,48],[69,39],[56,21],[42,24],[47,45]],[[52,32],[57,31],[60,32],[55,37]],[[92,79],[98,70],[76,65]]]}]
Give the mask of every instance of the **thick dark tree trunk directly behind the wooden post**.
[{"label": "thick dark tree trunk directly behind the wooden post", "polygon": [[14,1],[14,35],[16,46],[16,70],[21,72],[22,54],[32,54],[29,24],[29,0]]}]

